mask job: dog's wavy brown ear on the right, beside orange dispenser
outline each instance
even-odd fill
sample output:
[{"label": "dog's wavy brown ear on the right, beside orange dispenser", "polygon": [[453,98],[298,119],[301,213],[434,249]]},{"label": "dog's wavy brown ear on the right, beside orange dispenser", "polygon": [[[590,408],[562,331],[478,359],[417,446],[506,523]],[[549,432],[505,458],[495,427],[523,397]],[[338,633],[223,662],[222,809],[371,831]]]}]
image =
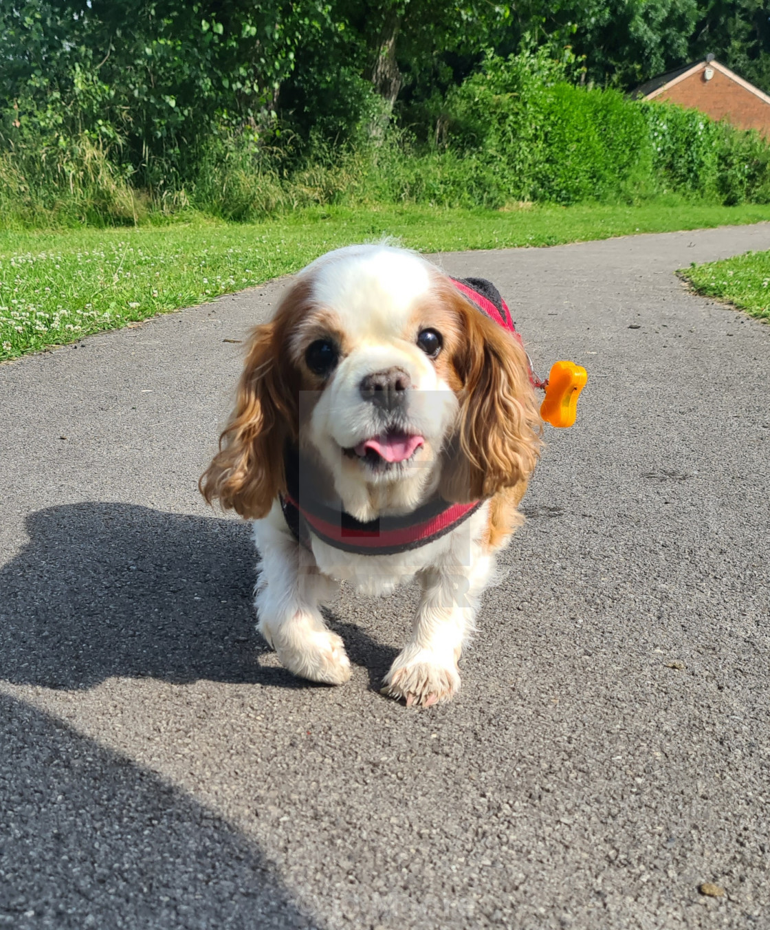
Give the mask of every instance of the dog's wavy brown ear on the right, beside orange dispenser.
[{"label": "dog's wavy brown ear on the right, beside orange dispenser", "polygon": [[446,450],[445,499],[490,498],[535,468],[542,420],[526,352],[511,333],[450,286],[462,339],[452,359],[462,387],[458,425]]}]

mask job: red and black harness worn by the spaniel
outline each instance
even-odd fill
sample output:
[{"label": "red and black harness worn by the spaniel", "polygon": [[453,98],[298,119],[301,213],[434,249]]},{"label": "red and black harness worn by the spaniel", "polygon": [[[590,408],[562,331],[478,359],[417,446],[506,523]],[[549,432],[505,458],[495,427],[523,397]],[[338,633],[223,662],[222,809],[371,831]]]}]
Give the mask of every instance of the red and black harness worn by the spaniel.
[{"label": "red and black harness worn by the spaniel", "polygon": [[[521,336],[511,320],[511,312],[494,285],[483,278],[451,280],[474,306],[521,343]],[[541,382],[533,373],[531,363],[529,377],[534,387],[540,386]],[[443,498],[434,498],[405,516],[379,517],[362,523],[350,513],[330,507],[317,498],[312,489],[315,469],[312,465],[303,468],[296,448],[286,449],[284,463],[286,492],[281,495],[281,507],[289,529],[308,549],[311,548],[311,534],[335,549],[361,555],[392,555],[418,549],[433,539],[445,536],[467,520],[484,502],[474,500],[470,504],[450,504]]]}]

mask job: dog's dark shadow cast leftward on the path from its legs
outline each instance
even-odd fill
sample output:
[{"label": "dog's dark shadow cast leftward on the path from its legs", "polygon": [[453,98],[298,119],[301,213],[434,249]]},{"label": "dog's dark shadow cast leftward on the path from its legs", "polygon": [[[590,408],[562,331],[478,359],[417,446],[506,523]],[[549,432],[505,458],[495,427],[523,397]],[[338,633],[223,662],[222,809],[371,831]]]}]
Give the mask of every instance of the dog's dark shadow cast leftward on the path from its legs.
[{"label": "dog's dark shadow cast leftward on the path from its legs", "polygon": [[[257,557],[234,520],[129,504],[53,507],[0,568],[0,678],[86,688],[111,676],[312,687],[272,663],[254,629]],[[335,622],[378,686],[395,651]]]}]

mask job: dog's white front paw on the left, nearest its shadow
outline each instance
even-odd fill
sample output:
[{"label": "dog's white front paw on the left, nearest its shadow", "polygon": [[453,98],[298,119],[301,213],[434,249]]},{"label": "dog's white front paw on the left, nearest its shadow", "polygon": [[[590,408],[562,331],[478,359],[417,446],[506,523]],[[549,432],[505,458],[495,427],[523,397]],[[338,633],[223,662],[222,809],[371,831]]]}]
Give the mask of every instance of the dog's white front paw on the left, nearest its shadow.
[{"label": "dog's white front paw on the left, nearest its shadow", "polygon": [[[298,618],[295,618],[297,620]],[[351,677],[351,660],[337,633],[314,624],[292,622],[268,634],[281,665],[300,678],[322,684],[343,684]]]}]

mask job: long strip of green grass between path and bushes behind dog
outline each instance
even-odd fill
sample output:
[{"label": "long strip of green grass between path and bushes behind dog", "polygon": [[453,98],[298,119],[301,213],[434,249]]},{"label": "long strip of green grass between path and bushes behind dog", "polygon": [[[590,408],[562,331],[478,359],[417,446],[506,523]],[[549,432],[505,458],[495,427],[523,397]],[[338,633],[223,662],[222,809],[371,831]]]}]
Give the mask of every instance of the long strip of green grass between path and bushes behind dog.
[{"label": "long strip of green grass between path and bushes behind dog", "polygon": [[326,208],[254,224],[0,232],[0,360],[294,272],[330,248],[396,237],[421,251],[555,246],[770,219],[770,206]]}]

